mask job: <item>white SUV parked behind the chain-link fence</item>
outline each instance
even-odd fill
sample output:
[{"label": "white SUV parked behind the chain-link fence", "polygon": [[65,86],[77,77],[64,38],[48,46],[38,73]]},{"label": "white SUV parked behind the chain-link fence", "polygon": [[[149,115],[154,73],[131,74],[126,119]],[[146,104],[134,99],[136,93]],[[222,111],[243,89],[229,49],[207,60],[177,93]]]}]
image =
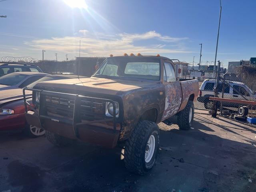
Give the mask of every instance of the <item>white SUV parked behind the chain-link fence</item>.
[{"label": "white SUV parked behind the chain-link fence", "polygon": [[[256,101],[256,93],[248,88],[246,84],[230,80],[226,80],[226,82],[227,83],[224,84],[224,98]],[[220,81],[218,86],[218,97],[222,97],[222,83],[223,81]],[[206,79],[200,87],[198,101],[204,103],[206,109],[211,109],[213,106],[213,101],[210,101],[209,97],[214,96],[215,84],[216,80]],[[228,84],[230,86],[228,86]],[[238,107],[240,105],[241,104],[238,103],[223,102],[223,106],[226,107]]]}]

